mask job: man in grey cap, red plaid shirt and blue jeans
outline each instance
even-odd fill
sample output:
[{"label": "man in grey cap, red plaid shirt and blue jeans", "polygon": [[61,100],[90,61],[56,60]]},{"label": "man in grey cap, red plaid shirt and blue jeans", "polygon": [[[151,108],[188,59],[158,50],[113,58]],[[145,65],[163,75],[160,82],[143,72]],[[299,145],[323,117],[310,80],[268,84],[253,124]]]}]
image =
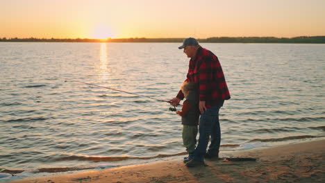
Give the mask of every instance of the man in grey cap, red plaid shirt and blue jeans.
[{"label": "man in grey cap, red plaid shirt and blue jeans", "polygon": [[[224,100],[231,98],[224,78],[221,64],[216,55],[207,49],[203,49],[197,40],[190,37],[184,40],[178,49],[184,49],[184,53],[190,58],[188,74],[185,81],[196,82],[199,86],[199,143],[192,156],[189,157],[188,167],[204,166],[204,157],[219,157],[221,140],[219,109]],[[180,91],[176,98],[169,102],[176,106],[183,100],[184,94]],[[211,143],[208,147],[208,141]]]}]

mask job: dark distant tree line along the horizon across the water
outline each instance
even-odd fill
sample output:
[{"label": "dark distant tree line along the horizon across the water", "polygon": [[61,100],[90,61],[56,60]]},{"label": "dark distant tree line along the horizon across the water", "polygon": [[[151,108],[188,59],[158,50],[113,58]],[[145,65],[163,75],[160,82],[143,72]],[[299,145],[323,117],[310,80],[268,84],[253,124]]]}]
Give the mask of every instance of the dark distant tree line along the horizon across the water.
[{"label": "dark distant tree line along the horizon across the water", "polygon": [[[99,39],[44,39],[44,38],[0,38],[0,42],[183,42],[184,38],[119,38],[106,40]],[[199,42],[211,43],[319,43],[325,44],[325,36],[300,36],[300,37],[209,37],[206,39],[199,39]]]}]

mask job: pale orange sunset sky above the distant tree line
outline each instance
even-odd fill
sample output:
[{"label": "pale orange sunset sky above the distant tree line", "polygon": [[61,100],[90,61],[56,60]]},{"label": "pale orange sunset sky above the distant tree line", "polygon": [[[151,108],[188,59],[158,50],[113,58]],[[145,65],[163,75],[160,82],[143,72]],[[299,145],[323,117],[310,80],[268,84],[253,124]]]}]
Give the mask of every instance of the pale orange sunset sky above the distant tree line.
[{"label": "pale orange sunset sky above the distant tree line", "polygon": [[325,0],[0,0],[0,37],[325,35]]}]

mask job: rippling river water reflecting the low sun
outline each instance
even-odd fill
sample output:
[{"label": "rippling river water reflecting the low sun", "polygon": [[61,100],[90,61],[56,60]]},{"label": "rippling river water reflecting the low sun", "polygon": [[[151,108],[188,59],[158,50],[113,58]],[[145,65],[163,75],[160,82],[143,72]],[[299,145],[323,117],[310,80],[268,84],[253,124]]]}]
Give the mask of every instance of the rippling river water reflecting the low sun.
[{"label": "rippling river water reflecting the low sun", "polygon": [[[168,103],[69,81],[169,100],[188,70],[180,44],[0,43],[0,170],[182,155],[181,118]],[[324,138],[324,44],[201,46],[218,56],[231,92],[220,110],[221,155]]]}]

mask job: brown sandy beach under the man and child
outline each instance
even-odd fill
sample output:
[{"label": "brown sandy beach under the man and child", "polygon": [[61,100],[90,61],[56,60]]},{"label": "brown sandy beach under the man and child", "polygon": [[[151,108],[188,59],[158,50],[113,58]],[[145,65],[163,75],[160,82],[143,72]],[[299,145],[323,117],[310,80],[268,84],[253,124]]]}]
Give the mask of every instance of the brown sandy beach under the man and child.
[{"label": "brown sandy beach under the man and child", "polygon": [[[22,182],[325,182],[325,140],[233,153],[232,158],[256,161],[228,161],[227,157],[206,160],[207,166],[188,168],[179,161],[124,166],[104,171],[29,178]],[[234,159],[238,160],[238,159]]]}]

